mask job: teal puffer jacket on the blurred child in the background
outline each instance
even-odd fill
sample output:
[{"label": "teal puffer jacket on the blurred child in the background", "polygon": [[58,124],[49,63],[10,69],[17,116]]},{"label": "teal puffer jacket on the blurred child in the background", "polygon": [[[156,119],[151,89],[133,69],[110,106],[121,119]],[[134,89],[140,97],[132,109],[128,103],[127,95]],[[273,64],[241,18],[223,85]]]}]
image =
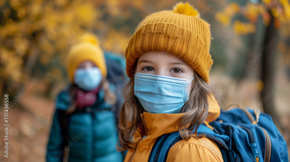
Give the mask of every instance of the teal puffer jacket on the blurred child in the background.
[{"label": "teal puffer jacket on the blurred child in the background", "polygon": [[68,91],[61,92],[57,97],[57,110],[47,146],[47,162],[63,161],[68,150],[69,162],[122,161],[122,154],[116,150],[118,137],[114,113],[104,102],[104,91],[100,90],[94,105],[69,116],[65,115],[70,105],[68,98]]}]

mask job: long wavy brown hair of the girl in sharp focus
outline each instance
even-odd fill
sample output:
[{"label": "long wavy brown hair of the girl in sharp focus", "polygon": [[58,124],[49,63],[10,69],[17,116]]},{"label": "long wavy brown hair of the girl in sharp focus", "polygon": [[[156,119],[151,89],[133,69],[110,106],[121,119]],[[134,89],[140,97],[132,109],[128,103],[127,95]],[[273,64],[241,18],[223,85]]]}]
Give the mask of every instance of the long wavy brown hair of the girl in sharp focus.
[{"label": "long wavy brown hair of the girl in sharp focus", "polygon": [[[134,75],[126,85],[124,104],[121,107],[119,116],[119,146],[118,150],[134,149],[131,138],[136,132],[142,119],[140,114],[144,112],[138,98],[134,95]],[[178,131],[182,139],[188,141],[193,135],[191,131],[198,128],[200,124],[207,118],[209,110],[209,100],[212,100],[213,90],[196,72],[192,81],[191,93],[189,100],[184,104],[180,113],[185,113],[179,119]],[[195,129],[194,135],[197,138],[202,136],[197,135]]]}]

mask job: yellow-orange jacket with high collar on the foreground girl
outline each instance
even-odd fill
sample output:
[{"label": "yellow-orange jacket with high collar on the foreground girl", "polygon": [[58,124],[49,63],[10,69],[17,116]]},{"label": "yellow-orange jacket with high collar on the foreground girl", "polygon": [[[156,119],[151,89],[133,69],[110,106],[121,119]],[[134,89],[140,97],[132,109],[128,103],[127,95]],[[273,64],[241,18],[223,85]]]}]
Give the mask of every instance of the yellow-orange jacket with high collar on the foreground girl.
[{"label": "yellow-orange jacket with high collar on the foreground girl", "polygon": [[[152,114],[144,112],[141,114],[144,129],[137,129],[133,142],[136,149],[129,149],[125,162],[147,162],[151,149],[156,139],[166,133],[178,131],[177,121],[184,113],[180,114]],[[209,115],[206,124],[215,120],[220,115],[220,106],[216,101],[209,104]],[[212,127],[209,126],[211,129]],[[138,128],[142,128],[138,126]],[[144,137],[147,136],[147,137]],[[144,137],[144,138],[143,138]],[[143,138],[143,139],[142,139]],[[191,137],[189,141],[181,140],[175,143],[169,150],[167,162],[223,162],[222,154],[217,144],[206,137],[201,139]]]}]

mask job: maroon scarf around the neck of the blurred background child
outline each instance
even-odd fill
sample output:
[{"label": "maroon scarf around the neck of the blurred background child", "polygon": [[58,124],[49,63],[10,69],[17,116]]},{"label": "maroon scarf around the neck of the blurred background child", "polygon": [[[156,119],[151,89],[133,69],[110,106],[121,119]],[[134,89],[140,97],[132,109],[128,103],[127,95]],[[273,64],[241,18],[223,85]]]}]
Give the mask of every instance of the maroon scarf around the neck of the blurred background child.
[{"label": "maroon scarf around the neck of the blurred background child", "polygon": [[76,106],[77,108],[84,108],[86,106],[92,106],[98,98],[98,92],[101,89],[101,85],[99,85],[96,89],[92,91],[83,91],[80,89],[76,94]]}]

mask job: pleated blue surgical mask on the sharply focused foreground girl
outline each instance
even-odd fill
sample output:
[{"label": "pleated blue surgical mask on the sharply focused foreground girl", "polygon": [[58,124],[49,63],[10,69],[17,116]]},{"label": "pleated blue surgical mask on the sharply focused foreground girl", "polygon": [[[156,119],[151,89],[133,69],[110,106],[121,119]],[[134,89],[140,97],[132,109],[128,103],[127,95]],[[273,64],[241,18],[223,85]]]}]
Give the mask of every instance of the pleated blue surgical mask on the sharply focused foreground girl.
[{"label": "pleated blue surgical mask on the sharply focused foreground girl", "polygon": [[134,94],[149,113],[179,113],[193,80],[135,73]]}]

